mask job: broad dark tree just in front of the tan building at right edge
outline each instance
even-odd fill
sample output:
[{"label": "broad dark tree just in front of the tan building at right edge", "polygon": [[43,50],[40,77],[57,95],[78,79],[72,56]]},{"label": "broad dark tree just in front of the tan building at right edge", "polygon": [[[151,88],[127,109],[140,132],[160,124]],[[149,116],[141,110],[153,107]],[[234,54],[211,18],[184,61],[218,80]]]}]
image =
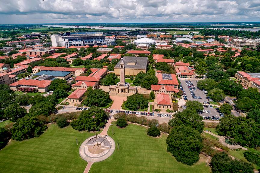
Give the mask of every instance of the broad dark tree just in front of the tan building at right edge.
[{"label": "broad dark tree just in front of the tan building at right edge", "polygon": [[218,83],[218,88],[223,90],[226,95],[230,96],[237,96],[237,94],[243,90],[243,86],[240,83],[228,79],[222,79]]}]

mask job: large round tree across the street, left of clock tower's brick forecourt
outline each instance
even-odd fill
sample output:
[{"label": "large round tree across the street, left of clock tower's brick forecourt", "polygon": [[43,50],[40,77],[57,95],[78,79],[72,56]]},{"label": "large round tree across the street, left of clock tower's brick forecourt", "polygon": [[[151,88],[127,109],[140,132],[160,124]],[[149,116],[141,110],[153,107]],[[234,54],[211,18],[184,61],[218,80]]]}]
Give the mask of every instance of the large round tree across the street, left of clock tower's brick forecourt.
[{"label": "large round tree across the street, left of clock tower's brick forecourt", "polygon": [[98,106],[104,107],[111,102],[108,92],[104,92],[101,89],[92,90],[92,87],[88,87],[87,92],[85,93],[85,100],[82,102],[83,105],[88,107]]}]

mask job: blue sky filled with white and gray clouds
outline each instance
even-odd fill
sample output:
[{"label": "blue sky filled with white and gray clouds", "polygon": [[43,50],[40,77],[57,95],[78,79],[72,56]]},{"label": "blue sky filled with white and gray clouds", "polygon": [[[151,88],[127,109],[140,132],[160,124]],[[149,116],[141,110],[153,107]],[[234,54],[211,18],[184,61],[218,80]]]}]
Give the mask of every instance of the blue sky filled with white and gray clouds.
[{"label": "blue sky filled with white and gray clouds", "polygon": [[0,0],[0,24],[260,21],[260,0]]}]

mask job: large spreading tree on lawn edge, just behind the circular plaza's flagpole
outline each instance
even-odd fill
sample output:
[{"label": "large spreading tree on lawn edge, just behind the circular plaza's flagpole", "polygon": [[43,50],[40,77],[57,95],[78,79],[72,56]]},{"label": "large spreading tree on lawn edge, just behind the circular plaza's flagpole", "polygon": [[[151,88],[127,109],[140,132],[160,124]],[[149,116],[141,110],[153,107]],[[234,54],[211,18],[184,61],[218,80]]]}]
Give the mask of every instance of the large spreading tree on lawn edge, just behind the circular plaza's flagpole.
[{"label": "large spreading tree on lawn edge, just behind the circular plaza's flagpole", "polygon": [[[95,118],[93,118],[93,116]],[[92,106],[86,111],[82,111],[77,120],[73,120],[70,125],[73,129],[83,131],[92,131],[94,129],[99,130],[107,123],[107,113],[96,106]]]}]

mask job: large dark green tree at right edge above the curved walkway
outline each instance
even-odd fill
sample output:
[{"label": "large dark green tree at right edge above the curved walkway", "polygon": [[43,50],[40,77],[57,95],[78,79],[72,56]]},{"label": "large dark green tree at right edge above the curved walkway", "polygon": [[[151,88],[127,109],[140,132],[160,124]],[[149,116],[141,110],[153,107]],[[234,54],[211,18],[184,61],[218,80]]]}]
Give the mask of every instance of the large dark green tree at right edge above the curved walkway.
[{"label": "large dark green tree at right edge above the curved walkway", "polygon": [[228,136],[229,141],[242,146],[260,146],[259,124],[246,117],[226,115],[221,118],[216,127],[216,132],[221,136]]}]

